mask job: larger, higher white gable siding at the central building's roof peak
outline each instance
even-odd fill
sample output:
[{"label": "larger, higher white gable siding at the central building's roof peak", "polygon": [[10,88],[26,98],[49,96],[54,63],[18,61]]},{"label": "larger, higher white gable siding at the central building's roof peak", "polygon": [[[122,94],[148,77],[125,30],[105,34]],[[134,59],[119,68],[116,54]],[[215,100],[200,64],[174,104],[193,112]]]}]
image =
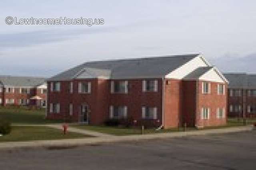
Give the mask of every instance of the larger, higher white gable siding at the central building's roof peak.
[{"label": "larger, higher white gable siding at the central building's roof peak", "polygon": [[195,57],[194,59],[190,60],[188,63],[180,66],[178,69],[172,71],[166,78],[174,78],[174,79],[182,79],[198,67],[207,67],[208,65],[200,56]]}]

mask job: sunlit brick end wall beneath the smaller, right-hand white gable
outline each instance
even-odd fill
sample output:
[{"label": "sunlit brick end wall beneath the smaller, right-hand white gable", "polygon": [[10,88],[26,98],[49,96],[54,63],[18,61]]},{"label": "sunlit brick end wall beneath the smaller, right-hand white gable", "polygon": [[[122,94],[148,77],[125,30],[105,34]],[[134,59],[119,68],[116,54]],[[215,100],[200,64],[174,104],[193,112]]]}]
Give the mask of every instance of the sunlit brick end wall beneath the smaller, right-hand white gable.
[{"label": "sunlit brick end wall beneath the smaller, right-hand white gable", "polygon": [[[218,95],[218,83],[210,82],[211,93],[202,94],[202,81],[197,84],[197,109],[196,109],[196,125],[198,127],[226,125],[226,116],[217,119],[217,108],[225,108],[227,113],[227,84],[225,85],[225,95]],[[201,119],[202,107],[210,108],[210,119]]]}]

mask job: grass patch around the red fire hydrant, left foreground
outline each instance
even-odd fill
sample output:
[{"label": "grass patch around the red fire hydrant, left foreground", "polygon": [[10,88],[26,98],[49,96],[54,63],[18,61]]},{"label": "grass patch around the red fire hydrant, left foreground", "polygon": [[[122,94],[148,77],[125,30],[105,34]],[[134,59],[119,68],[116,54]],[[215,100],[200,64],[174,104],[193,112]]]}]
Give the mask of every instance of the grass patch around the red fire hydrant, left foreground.
[{"label": "grass patch around the red fire hydrant, left foreground", "polygon": [[92,136],[74,132],[68,132],[64,135],[62,130],[50,127],[12,127],[12,132],[10,134],[1,136],[0,142],[71,139],[86,137]]}]

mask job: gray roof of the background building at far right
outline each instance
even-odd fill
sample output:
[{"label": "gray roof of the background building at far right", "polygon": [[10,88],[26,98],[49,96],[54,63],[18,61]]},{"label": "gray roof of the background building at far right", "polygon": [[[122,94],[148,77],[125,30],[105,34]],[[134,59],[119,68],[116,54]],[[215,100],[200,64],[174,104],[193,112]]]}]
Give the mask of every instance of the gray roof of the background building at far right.
[{"label": "gray roof of the background building at far right", "polygon": [[256,88],[256,75],[246,73],[224,73],[230,88]]}]

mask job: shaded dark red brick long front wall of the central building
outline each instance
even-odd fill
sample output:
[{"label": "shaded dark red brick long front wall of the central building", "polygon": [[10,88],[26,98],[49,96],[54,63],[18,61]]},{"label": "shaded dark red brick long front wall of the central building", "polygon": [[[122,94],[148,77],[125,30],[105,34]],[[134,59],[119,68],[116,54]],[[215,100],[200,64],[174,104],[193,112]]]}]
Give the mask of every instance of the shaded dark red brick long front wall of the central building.
[{"label": "shaded dark red brick long front wall of the central building", "polygon": [[[119,81],[119,80],[115,80]],[[48,83],[48,106],[49,103],[60,103],[60,113],[49,113],[48,119],[64,119],[68,115],[69,103],[73,104],[73,121],[78,121],[79,107],[86,103],[90,107],[90,124],[99,125],[109,119],[109,107],[127,106],[127,117],[139,121],[142,119],[142,106],[157,107],[158,119],[162,120],[162,82],[158,80],[158,92],[142,93],[142,80],[128,80],[128,94],[110,93],[110,80],[106,79],[84,79],[73,81],[73,93],[69,93],[70,81],[60,81],[61,91],[50,92],[50,83]],[[78,94],[78,82],[91,82],[92,91],[90,94]],[[160,124],[161,122],[159,122]]]}]

